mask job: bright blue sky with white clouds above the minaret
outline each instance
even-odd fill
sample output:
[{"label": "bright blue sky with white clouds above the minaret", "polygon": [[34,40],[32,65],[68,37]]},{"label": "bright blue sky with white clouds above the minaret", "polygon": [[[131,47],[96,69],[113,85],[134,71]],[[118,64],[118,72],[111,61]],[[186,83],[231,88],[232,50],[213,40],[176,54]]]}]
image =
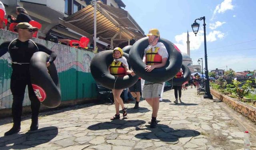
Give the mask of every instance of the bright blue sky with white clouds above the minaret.
[{"label": "bright blue sky with white clouds above the minaret", "polygon": [[208,70],[256,70],[255,0],[122,1],[126,5],[124,10],[145,34],[157,28],[161,38],[173,42],[184,53],[187,53],[188,31],[193,64],[198,64],[198,58],[204,61],[204,22],[196,21],[200,24],[196,36],[191,24],[205,16]]}]

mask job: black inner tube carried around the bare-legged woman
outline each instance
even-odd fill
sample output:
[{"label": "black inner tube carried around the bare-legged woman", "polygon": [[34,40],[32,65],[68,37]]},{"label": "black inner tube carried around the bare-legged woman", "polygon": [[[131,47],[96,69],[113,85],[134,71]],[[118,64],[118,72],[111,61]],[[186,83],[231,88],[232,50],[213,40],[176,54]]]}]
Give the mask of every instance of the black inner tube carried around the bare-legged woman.
[{"label": "black inner tube carried around the bare-legged woman", "polygon": [[[124,53],[124,57],[129,60],[128,54]],[[99,52],[92,59],[90,68],[93,78],[109,89],[125,89],[131,87],[138,81],[138,76],[131,76],[130,74],[124,77],[116,77],[110,74],[108,66],[113,61],[113,50],[105,50]],[[128,61],[129,67],[130,63]]]}]

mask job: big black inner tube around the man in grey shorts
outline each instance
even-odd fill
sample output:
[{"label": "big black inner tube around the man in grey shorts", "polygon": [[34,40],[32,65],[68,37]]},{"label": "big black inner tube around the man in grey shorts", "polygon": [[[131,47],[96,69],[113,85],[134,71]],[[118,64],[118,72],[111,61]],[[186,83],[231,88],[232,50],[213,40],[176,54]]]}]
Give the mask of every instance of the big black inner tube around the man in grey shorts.
[{"label": "big black inner tube around the man in grey shorts", "polygon": [[135,42],[129,52],[129,62],[134,72],[142,79],[161,83],[172,79],[180,70],[182,64],[182,55],[176,46],[163,38],[160,38],[169,54],[166,65],[162,68],[155,68],[151,72],[146,72],[146,64],[142,61],[144,56],[144,49],[148,46],[148,37],[141,38]]}]

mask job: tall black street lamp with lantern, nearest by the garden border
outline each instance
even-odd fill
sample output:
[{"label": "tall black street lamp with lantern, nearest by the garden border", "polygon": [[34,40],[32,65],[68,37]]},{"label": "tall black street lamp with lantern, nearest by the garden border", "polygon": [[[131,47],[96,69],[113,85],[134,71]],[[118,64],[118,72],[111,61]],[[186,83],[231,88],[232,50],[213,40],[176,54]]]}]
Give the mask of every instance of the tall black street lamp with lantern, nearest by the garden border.
[{"label": "tall black street lamp with lantern, nearest by the garden border", "polygon": [[[207,50],[206,50],[206,30],[205,30],[205,16],[198,18],[196,20],[204,20],[204,58],[205,58],[205,76],[206,76],[206,82],[205,82],[205,90],[206,93],[204,94],[204,98],[210,98],[212,99],[212,94],[210,92],[210,83],[209,83],[209,75],[208,75],[208,64],[207,64]],[[192,30],[194,32],[194,34],[198,33],[198,29],[199,29],[199,24],[196,22],[196,20],[194,21],[194,23],[191,25],[192,26]]]}]

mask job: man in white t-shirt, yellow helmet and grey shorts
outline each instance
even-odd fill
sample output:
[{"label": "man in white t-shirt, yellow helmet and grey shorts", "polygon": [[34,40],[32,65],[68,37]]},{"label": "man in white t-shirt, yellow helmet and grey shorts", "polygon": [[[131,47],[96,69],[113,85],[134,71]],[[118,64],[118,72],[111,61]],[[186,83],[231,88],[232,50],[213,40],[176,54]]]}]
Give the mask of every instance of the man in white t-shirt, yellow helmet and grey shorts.
[{"label": "man in white t-shirt, yellow helmet and grey shorts", "polygon": [[[148,47],[145,49],[143,61],[146,63],[145,70],[151,72],[154,68],[166,65],[168,52],[163,43],[158,42],[160,33],[157,29],[150,29],[148,34]],[[156,77],[157,78],[157,77]],[[161,97],[163,83],[152,83],[145,80],[142,88],[142,96],[152,107],[152,120],[150,128],[157,126],[156,117],[159,109],[159,98]]]}]

